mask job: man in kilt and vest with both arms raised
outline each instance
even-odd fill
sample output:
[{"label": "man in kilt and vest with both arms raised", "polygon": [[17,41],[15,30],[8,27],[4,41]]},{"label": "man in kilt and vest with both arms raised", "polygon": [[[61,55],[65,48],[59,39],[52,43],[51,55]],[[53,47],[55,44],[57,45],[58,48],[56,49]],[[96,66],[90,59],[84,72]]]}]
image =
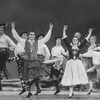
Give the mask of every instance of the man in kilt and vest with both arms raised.
[{"label": "man in kilt and vest with both arms raised", "polygon": [[[51,37],[51,33],[52,33],[52,29],[53,29],[53,24],[49,24],[49,31],[46,34],[46,36],[41,39],[41,40],[37,40],[35,37],[35,33],[34,32],[30,32],[29,33],[29,41],[26,41],[25,39],[22,39],[21,37],[19,37],[19,35],[17,34],[16,30],[15,30],[15,23],[11,23],[12,26],[12,34],[13,37],[20,42],[24,49],[25,49],[25,65],[28,64],[28,70],[27,70],[27,65],[24,68],[24,75],[23,75],[23,79],[28,81],[28,79],[32,79],[31,82],[29,83],[29,87],[28,89],[28,95],[26,96],[27,98],[32,96],[31,93],[31,86],[33,83],[35,83],[36,88],[37,88],[37,92],[35,93],[35,95],[38,95],[38,93],[41,92],[40,87],[39,87],[39,78],[41,76],[44,76],[44,74],[47,74],[46,70],[41,66],[40,62],[37,59],[37,50],[38,48],[43,45],[44,43],[46,43],[50,37]],[[25,73],[27,72],[27,73]],[[26,92],[22,90],[22,93]]]}]

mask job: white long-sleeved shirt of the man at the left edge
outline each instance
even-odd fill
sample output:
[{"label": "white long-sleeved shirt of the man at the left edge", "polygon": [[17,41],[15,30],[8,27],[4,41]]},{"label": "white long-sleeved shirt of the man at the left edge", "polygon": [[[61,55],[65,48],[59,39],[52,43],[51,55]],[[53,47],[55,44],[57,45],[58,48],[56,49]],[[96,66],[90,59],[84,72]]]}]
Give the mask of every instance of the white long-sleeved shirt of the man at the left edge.
[{"label": "white long-sleeved shirt of the man at the left edge", "polygon": [[13,51],[16,48],[16,44],[5,34],[0,37],[0,48],[9,48]]}]

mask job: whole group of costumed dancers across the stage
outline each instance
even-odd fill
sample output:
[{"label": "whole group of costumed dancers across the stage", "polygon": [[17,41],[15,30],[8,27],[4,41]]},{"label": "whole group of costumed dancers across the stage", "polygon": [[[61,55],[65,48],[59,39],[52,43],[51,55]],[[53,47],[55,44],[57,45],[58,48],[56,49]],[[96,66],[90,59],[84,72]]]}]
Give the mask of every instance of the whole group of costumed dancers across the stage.
[{"label": "whole group of costumed dancers across the stage", "polygon": [[[18,75],[21,80],[22,91],[19,95],[28,91],[26,98],[32,96],[31,87],[35,83],[36,93],[41,93],[40,82],[43,78],[48,79],[43,82],[43,86],[54,85],[56,91],[60,92],[59,84],[68,86],[71,98],[74,95],[74,86],[89,84],[88,95],[92,92],[93,76],[96,77],[100,65],[100,47],[96,45],[96,36],[92,35],[93,29],[88,30],[88,35],[80,41],[81,34],[76,32],[69,43],[67,39],[67,25],[64,25],[62,37],[56,37],[56,45],[50,51],[45,44],[49,41],[53,24],[49,24],[47,34],[24,31],[20,35],[15,29],[15,22],[11,23],[11,32],[18,42],[15,44],[6,34],[6,24],[0,24],[0,90],[2,90],[2,73],[6,70],[6,62],[16,60]],[[66,45],[66,50],[62,47],[61,41]],[[90,44],[87,52],[81,54],[81,49]],[[15,57],[9,57],[9,49],[14,51]],[[5,72],[6,73],[6,72]],[[92,73],[92,75],[91,75]],[[60,77],[62,74],[62,77]],[[42,87],[43,87],[42,86]]]}]

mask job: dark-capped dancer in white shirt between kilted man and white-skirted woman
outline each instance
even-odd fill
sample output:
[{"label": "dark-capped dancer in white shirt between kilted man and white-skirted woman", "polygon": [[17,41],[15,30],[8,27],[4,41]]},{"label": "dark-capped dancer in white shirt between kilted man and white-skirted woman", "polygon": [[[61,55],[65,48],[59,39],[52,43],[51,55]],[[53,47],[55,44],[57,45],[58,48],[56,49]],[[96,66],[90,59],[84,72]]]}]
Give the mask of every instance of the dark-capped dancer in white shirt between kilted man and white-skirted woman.
[{"label": "dark-capped dancer in white shirt between kilted man and white-skirted woman", "polygon": [[51,68],[51,74],[50,77],[53,79],[54,85],[56,87],[56,92],[54,95],[60,92],[59,88],[59,75],[61,71],[62,61],[63,61],[63,55],[65,55],[65,50],[61,45],[61,37],[56,37],[56,46],[54,46],[51,50],[52,59],[58,59],[58,61],[55,62],[55,64]]}]

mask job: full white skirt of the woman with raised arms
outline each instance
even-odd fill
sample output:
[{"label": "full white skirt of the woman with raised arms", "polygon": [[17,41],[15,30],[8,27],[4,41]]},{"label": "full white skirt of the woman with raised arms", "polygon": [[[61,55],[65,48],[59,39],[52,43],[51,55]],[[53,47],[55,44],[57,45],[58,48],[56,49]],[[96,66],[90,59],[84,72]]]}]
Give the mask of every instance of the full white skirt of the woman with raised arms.
[{"label": "full white skirt of the woman with raised arms", "polygon": [[61,84],[64,86],[74,86],[77,84],[88,84],[88,77],[81,60],[69,60],[66,63]]}]

